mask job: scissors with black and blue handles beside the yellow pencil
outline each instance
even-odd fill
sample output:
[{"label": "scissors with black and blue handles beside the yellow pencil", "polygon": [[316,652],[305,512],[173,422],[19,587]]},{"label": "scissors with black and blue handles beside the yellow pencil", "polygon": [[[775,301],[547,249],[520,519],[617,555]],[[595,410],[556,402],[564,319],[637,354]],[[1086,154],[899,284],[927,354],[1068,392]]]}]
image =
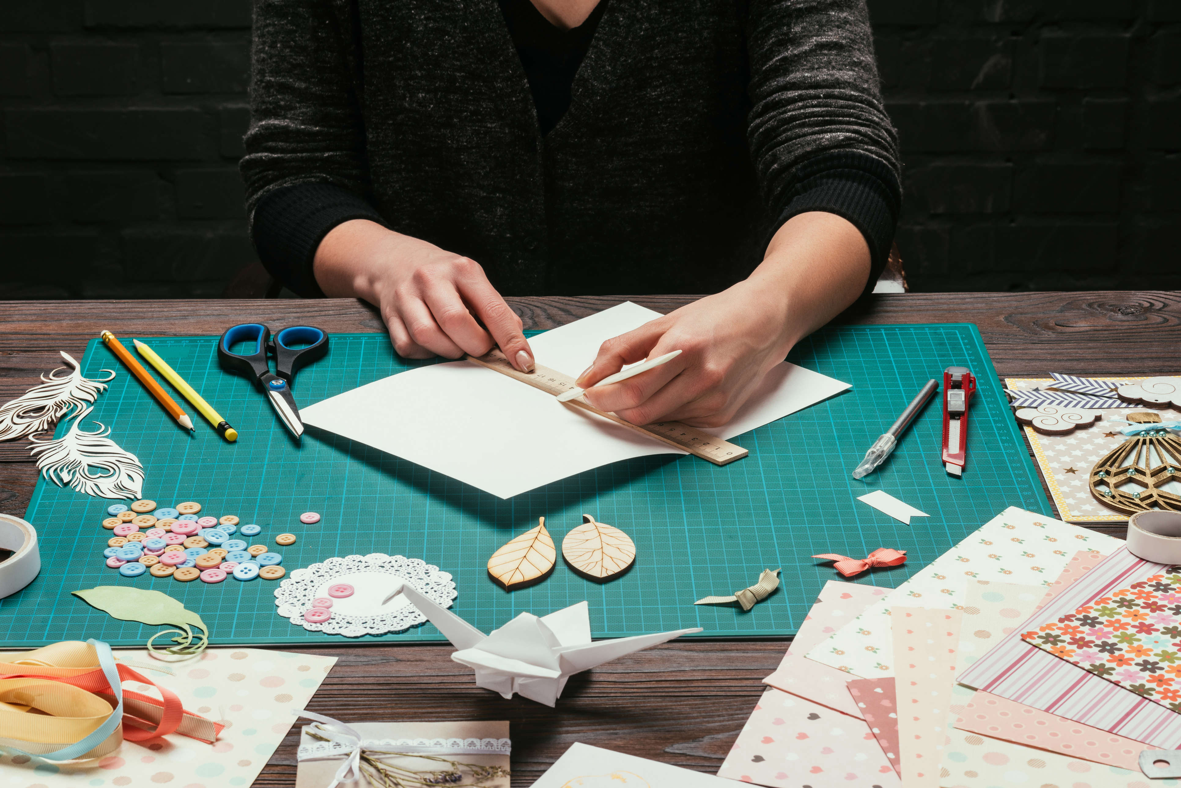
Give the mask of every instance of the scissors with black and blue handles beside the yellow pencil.
[{"label": "scissors with black and blue handles beside the yellow pencil", "polygon": [[[236,343],[253,341],[254,352],[248,354],[230,351]],[[292,347],[302,345],[306,347]],[[254,378],[270,400],[292,435],[304,435],[304,422],[292,397],[292,380],[301,366],[314,362],[328,351],[328,334],[312,326],[291,326],[270,337],[270,330],[261,323],[243,323],[231,326],[217,343],[217,359],[223,366],[244,372]],[[275,371],[270,372],[268,353],[275,357]]]}]

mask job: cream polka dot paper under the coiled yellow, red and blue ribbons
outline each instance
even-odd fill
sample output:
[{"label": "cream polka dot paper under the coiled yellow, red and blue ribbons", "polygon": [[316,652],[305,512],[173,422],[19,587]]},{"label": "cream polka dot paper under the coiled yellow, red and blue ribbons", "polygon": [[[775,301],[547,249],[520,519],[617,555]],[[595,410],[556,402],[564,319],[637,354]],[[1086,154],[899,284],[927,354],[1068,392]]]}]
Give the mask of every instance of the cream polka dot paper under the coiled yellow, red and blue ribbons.
[{"label": "cream polka dot paper under the coiled yellow, red and blue ribbons", "polygon": [[[295,723],[292,710],[307,705],[337,662],[261,649],[207,649],[180,663],[136,649],[117,651],[116,659],[176,692],[185,709],[224,724],[217,742],[180,734],[124,741],[112,755],[83,767],[4,755],[0,788],[247,788]],[[136,682],[123,686],[155,696]]]}]

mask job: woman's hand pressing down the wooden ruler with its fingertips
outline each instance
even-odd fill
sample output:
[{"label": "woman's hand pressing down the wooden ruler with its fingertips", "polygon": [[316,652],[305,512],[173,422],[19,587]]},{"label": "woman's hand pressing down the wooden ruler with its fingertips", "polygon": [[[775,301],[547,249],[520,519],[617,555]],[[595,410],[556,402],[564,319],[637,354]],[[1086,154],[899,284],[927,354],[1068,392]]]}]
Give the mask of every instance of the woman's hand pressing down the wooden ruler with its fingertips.
[{"label": "woman's hand pressing down the wooden ruler with its fingertips", "polygon": [[497,346],[516,369],[533,370],[521,318],[474,260],[355,219],[324,237],[314,271],[326,295],[380,308],[403,358],[483,356]]}]

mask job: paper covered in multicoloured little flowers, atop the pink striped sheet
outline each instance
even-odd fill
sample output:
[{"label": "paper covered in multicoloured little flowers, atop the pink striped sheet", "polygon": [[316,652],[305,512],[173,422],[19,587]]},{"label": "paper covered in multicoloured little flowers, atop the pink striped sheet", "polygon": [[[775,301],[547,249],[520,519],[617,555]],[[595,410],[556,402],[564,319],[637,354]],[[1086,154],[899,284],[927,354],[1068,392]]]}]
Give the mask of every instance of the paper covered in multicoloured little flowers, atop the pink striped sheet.
[{"label": "paper covered in multicoloured little flowers, atop the pink striped sheet", "polygon": [[1022,639],[1181,712],[1181,566],[1100,597]]}]

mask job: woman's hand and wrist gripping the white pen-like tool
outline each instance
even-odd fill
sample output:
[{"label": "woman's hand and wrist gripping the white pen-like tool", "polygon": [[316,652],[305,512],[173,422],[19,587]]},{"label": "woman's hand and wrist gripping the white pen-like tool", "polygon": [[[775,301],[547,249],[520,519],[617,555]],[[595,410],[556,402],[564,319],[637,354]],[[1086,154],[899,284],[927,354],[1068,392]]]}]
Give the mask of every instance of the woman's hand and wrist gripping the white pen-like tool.
[{"label": "woman's hand and wrist gripping the white pen-like tool", "polygon": [[578,383],[589,389],[626,364],[680,350],[663,366],[589,389],[586,399],[633,424],[720,426],[800,339],[856,300],[868,275],[857,228],[835,214],[800,214],[746,280],[608,339]]}]

